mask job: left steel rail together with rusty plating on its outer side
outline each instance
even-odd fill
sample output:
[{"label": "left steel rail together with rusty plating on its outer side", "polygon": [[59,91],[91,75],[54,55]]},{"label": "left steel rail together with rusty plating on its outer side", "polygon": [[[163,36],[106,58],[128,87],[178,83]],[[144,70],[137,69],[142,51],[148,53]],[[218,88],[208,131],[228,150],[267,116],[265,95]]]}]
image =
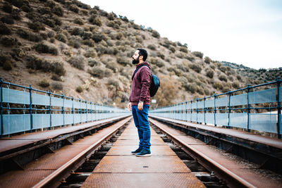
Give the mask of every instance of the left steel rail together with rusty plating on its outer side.
[{"label": "left steel rail together with rusty plating on its outer side", "polygon": [[2,174],[0,187],[58,187],[130,119],[125,118],[94,134],[81,137],[54,153],[23,165],[23,170],[10,170]]}]

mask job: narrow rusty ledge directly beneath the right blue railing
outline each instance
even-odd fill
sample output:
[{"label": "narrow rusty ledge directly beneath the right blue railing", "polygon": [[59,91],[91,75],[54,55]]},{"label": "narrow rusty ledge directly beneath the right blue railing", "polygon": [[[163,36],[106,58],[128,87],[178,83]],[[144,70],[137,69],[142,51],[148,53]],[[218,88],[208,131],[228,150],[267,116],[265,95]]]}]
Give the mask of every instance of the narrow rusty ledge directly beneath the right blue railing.
[{"label": "narrow rusty ledge directly beneath the right blue railing", "polygon": [[[154,115],[150,115],[150,116],[155,117]],[[157,117],[157,118],[167,120],[167,121],[173,122],[173,123],[179,123],[181,125],[195,127],[195,128],[198,128],[198,129],[210,130],[210,131],[218,132],[218,133],[221,133],[221,134],[227,134],[227,135],[231,135],[232,137],[247,139],[247,140],[250,140],[250,141],[253,141],[253,142],[266,144],[268,146],[274,146],[276,148],[282,149],[282,140],[281,139],[276,139],[276,138],[266,137],[266,136],[262,136],[262,135],[252,134],[252,133],[249,133],[249,132],[243,132],[242,130],[226,129],[226,128],[223,128],[223,127],[214,127],[214,126],[210,126],[210,125],[199,125],[199,124],[188,123],[188,122],[180,121],[180,120],[172,120],[172,119],[169,119],[169,118],[160,118],[160,117]]]}]

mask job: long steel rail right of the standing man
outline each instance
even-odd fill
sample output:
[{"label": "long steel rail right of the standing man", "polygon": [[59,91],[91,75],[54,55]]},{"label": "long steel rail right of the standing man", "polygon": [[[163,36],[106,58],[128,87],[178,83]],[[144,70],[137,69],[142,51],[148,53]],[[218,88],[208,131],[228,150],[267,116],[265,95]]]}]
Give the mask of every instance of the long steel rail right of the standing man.
[{"label": "long steel rail right of the standing man", "polygon": [[223,165],[217,163],[212,158],[209,158],[209,156],[206,156],[204,155],[204,153],[192,148],[187,143],[183,142],[181,139],[173,137],[173,134],[159,127],[158,122],[156,120],[149,119],[149,122],[157,126],[162,132],[166,133],[166,136],[172,139],[173,142],[176,142],[176,144],[179,144],[186,153],[190,154],[190,156],[197,159],[197,162],[203,165],[204,168],[207,168],[211,172],[214,171],[214,173],[218,177],[221,177],[223,180],[226,180],[226,182],[228,182],[228,185],[230,185],[231,187],[255,187],[253,184],[250,184],[242,177],[231,172],[231,170],[228,170],[227,168],[223,167]]}]

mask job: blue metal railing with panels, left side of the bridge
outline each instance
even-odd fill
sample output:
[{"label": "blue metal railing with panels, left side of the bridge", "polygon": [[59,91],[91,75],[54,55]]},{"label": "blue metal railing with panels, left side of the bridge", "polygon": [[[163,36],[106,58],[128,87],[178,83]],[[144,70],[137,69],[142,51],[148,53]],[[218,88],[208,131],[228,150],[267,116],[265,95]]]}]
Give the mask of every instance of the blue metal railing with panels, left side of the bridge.
[{"label": "blue metal railing with panels, left side of the bridge", "polygon": [[[129,115],[121,108],[25,87],[0,78],[0,136]],[[13,87],[11,89],[10,87]],[[16,89],[14,89],[14,87]]]}]

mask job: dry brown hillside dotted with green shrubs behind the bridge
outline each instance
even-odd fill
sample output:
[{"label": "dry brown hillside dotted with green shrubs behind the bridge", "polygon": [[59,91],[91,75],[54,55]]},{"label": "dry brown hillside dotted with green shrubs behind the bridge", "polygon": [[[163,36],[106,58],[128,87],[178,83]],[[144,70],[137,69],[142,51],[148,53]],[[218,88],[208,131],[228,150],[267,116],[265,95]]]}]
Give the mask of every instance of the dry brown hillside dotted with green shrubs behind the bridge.
[{"label": "dry brown hillside dotted with green shrubs behind the bridge", "polygon": [[245,74],[212,61],[150,27],[80,1],[6,0],[0,9],[0,74],[6,82],[125,107],[138,47],[147,49],[161,80],[153,106],[264,81],[260,72]]}]

